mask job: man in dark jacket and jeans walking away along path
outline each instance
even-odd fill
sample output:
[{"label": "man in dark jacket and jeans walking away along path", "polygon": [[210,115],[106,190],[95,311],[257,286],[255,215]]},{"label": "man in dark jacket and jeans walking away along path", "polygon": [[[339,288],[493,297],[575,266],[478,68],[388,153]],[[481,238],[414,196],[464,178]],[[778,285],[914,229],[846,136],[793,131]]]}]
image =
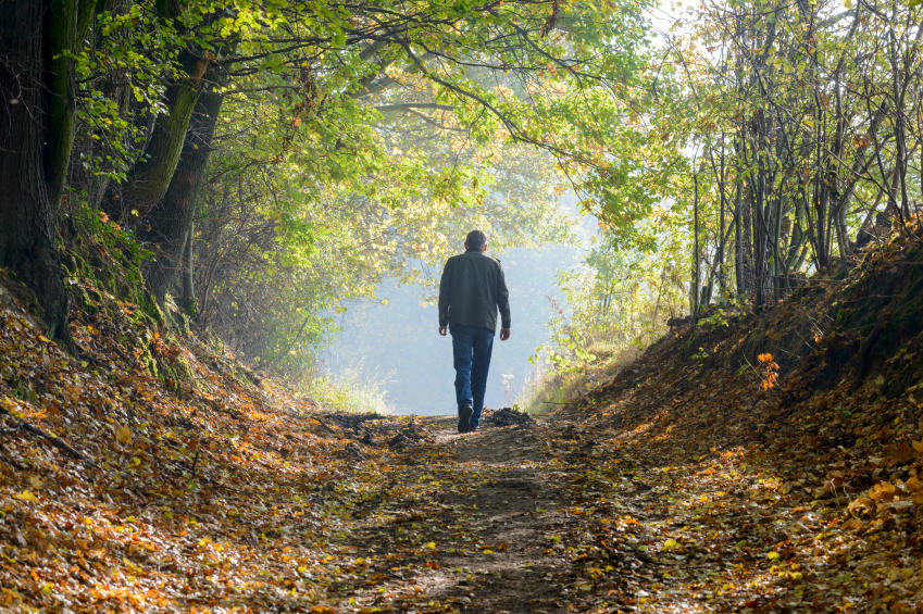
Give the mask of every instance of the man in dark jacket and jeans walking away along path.
[{"label": "man in dark jacket and jeans walking away along path", "polygon": [[446,262],[439,283],[439,335],[452,334],[459,433],[476,430],[500,311],[500,340],[510,338],[510,292],[500,262],[485,255],[487,236],[472,230],[464,253]]}]

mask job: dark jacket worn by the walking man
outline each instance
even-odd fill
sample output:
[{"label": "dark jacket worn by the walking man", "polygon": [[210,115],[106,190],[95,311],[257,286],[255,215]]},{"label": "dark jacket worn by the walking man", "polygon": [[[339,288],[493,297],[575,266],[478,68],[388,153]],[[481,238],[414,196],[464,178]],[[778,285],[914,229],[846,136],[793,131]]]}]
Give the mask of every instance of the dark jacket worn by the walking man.
[{"label": "dark jacket worn by the walking man", "polygon": [[497,310],[510,327],[510,292],[500,262],[481,250],[467,250],[446,262],[439,283],[439,326],[475,326],[497,330]]}]

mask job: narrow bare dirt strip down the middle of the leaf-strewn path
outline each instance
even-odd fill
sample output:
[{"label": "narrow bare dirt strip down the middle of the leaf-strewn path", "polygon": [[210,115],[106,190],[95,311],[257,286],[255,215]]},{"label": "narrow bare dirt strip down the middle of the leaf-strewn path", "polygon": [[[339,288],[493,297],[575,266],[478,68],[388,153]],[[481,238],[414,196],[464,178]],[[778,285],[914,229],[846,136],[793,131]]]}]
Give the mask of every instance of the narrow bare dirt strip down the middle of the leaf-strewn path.
[{"label": "narrow bare dirt strip down the middle of the leaf-strewn path", "polygon": [[487,427],[459,437],[448,434],[450,424],[434,426],[437,446],[445,446],[467,474],[461,480],[475,485],[467,493],[447,490],[441,500],[469,508],[464,524],[482,542],[479,552],[444,557],[445,567],[471,576],[445,593],[470,605],[465,611],[558,610],[562,596],[558,582],[549,580],[566,562],[546,550],[548,536],[564,522],[567,493],[561,488],[563,474],[542,450],[541,427]]}]

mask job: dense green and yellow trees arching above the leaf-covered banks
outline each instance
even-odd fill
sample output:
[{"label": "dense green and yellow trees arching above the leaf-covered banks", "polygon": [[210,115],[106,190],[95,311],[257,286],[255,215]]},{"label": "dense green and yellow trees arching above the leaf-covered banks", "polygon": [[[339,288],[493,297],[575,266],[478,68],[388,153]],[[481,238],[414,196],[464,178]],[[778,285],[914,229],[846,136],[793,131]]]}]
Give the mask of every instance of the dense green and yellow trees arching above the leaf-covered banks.
[{"label": "dense green and yellow trees arching above the leaf-covered banks", "polygon": [[311,379],[346,301],[432,283],[472,227],[573,241],[573,192],[603,240],[561,279],[542,360],[564,372],[905,227],[918,2],[659,11],[4,0],[0,265],[72,350],[93,278]]}]

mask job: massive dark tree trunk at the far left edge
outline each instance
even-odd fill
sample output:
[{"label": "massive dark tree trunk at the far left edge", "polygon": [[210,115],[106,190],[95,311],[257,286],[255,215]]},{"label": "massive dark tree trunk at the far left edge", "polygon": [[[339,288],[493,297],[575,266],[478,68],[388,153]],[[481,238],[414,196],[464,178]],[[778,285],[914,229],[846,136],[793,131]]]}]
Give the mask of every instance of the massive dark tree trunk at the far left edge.
[{"label": "massive dark tree trunk at the far left edge", "polygon": [[58,252],[74,142],[76,52],[95,2],[0,1],[0,265],[32,288],[52,337],[73,350]]}]

